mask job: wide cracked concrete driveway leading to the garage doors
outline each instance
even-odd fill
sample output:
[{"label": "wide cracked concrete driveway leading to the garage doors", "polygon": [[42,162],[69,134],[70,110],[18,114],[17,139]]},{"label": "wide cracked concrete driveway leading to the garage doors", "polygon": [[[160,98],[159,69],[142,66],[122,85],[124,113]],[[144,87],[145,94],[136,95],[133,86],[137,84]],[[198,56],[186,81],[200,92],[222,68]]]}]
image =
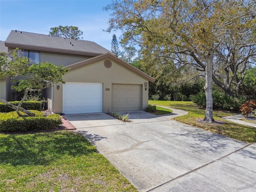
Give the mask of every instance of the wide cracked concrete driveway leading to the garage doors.
[{"label": "wide cracked concrete driveway leading to the garage doors", "polygon": [[256,191],[256,144],[172,120],[129,112],[65,115],[141,192]]}]

